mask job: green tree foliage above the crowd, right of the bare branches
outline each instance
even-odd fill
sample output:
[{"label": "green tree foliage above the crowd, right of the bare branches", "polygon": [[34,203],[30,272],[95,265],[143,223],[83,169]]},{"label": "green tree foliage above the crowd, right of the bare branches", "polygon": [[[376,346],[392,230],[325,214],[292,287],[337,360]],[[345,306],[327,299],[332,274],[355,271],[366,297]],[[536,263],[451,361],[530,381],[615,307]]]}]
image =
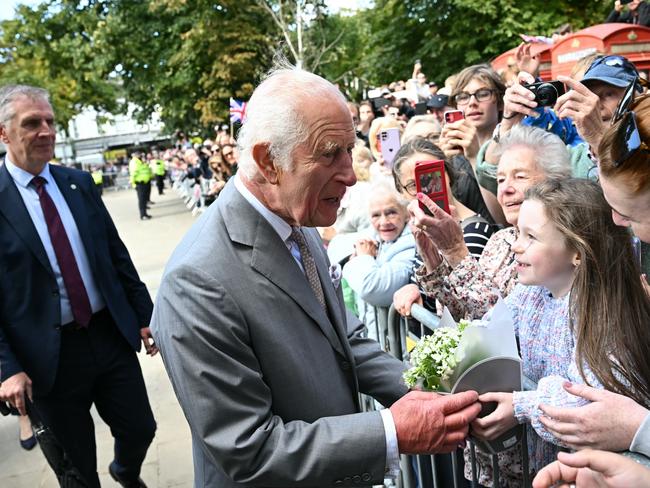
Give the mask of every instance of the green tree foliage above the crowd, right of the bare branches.
[{"label": "green tree foliage above the crowd, right of the bare branches", "polygon": [[423,71],[439,82],[465,66],[489,62],[517,46],[519,34],[550,35],[602,22],[613,2],[604,0],[377,0],[363,13],[370,39],[363,57],[375,84]]}]

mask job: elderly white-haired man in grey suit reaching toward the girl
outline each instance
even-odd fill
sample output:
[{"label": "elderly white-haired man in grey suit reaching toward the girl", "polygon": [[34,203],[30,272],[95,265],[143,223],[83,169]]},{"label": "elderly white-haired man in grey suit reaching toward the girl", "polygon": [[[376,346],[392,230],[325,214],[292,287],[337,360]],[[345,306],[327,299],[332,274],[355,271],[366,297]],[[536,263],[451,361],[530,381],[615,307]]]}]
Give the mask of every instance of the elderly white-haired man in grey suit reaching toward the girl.
[{"label": "elderly white-haired man in grey suit reaching toward the girl", "polygon": [[[410,392],[347,313],[315,226],[355,183],[326,80],[280,68],[250,99],[240,171],[174,252],[153,334],[190,424],[196,487],[362,486],[399,453],[449,452],[475,392]],[[390,408],[361,413],[358,393]]]}]

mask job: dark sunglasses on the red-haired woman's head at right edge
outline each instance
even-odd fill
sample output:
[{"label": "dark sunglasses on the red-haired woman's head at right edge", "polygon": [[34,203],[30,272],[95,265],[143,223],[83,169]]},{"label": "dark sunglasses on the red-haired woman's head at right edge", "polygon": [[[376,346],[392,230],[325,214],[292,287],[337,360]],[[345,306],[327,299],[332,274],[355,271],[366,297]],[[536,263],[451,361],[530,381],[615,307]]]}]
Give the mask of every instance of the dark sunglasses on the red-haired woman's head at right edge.
[{"label": "dark sunglasses on the red-haired woman's head at right edge", "polygon": [[[639,127],[636,123],[636,113],[631,110],[635,102],[637,87],[640,85],[645,85],[645,80],[636,78],[628,85],[612,117],[612,125],[619,124],[614,144],[618,154],[612,155],[612,164],[615,168],[618,168],[639,150],[650,153],[648,145],[641,140]],[[643,95],[642,98],[647,98],[647,96]]]}]

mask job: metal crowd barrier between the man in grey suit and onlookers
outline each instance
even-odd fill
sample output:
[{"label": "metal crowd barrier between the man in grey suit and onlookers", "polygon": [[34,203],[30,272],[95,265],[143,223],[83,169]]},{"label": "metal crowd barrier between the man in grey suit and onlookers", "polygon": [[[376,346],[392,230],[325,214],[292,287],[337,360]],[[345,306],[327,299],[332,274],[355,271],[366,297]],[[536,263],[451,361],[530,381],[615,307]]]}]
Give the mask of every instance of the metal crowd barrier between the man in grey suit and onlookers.
[{"label": "metal crowd barrier between the man in grey suit and onlookers", "polygon": [[[415,329],[419,328],[419,335],[409,331],[410,319],[399,315],[393,306],[390,309],[375,308],[376,337],[381,347],[400,361],[409,358],[407,338],[417,341],[422,335],[430,333],[438,327],[440,318],[426,310],[424,307],[414,304],[411,308],[411,317]],[[524,378],[524,389],[535,389],[534,382]],[[374,410],[376,402],[365,395],[361,395],[361,405],[364,411]],[[526,439],[526,428],[522,428],[523,435],[520,440],[522,453],[522,488],[531,486],[528,475],[528,442]],[[463,450],[459,449],[451,454],[437,454],[433,456],[400,456],[401,475],[396,480],[398,488],[460,488],[466,486],[478,487],[478,468],[476,463],[476,445],[471,440],[470,463],[472,481],[465,479]],[[498,457],[491,455],[493,486],[500,486],[500,473]]]}]

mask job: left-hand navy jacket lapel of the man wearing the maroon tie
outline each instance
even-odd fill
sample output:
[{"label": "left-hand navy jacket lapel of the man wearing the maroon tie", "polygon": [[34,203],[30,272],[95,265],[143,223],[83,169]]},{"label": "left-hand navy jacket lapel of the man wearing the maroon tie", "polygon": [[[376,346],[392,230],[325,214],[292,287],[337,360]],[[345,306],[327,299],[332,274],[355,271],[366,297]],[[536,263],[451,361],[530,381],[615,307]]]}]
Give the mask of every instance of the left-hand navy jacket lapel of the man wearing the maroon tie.
[{"label": "left-hand navy jacket lapel of the man wearing the maroon tie", "polygon": [[36,256],[36,259],[54,278],[54,271],[52,271],[50,261],[47,259],[41,238],[36,232],[36,227],[34,227],[32,218],[25,207],[25,202],[23,202],[23,198],[20,196],[18,188],[16,188],[4,164],[0,166],[0,212],[29,250]]}]

